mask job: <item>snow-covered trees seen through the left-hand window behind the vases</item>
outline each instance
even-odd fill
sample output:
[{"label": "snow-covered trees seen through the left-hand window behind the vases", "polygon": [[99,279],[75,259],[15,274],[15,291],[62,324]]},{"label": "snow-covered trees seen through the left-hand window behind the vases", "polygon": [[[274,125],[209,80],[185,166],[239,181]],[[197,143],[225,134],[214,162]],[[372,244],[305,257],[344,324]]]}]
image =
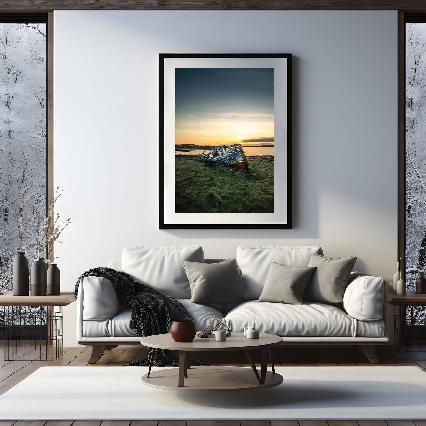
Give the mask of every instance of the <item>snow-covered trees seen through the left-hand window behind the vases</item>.
[{"label": "snow-covered trees seen through the left-hand window behind the vases", "polygon": [[0,290],[10,290],[22,206],[30,265],[34,218],[46,217],[46,24],[0,24],[0,201]]}]

